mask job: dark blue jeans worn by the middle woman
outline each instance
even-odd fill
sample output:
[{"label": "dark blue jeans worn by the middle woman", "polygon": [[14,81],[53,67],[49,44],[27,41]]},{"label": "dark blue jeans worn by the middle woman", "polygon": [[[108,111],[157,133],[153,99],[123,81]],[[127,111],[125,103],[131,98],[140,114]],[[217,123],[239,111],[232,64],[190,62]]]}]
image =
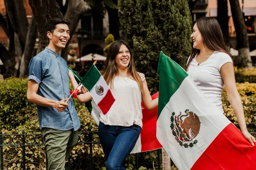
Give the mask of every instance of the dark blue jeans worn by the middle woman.
[{"label": "dark blue jeans worn by the middle woman", "polygon": [[107,170],[125,170],[123,163],[140,136],[138,125],[111,126],[99,122],[99,140],[107,158]]}]

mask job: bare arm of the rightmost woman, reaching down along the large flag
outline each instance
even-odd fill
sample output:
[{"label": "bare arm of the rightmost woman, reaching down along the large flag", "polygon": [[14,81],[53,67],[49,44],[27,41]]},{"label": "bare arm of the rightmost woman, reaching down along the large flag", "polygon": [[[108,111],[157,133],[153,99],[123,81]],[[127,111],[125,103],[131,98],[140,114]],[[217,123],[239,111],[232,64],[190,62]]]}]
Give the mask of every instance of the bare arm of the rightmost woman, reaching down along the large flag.
[{"label": "bare arm of the rightmost woman, reaching down along the large flag", "polygon": [[243,109],[240,95],[236,88],[234,68],[231,62],[227,62],[221,67],[221,77],[224,81],[224,84],[227,90],[228,100],[230,101],[230,104],[239,122],[241,132],[244,135],[244,137],[254,146],[253,142],[256,142],[256,140],[248,132],[246,127],[246,122],[244,119],[244,109]]}]

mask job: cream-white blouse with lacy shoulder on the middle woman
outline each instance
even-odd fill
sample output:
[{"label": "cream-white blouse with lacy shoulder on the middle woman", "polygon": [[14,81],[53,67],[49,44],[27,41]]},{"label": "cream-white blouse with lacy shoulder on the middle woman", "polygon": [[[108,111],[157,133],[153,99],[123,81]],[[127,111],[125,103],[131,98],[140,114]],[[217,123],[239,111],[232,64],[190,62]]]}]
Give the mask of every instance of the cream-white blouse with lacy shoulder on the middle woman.
[{"label": "cream-white blouse with lacy shoulder on the middle woman", "polygon": [[[145,76],[138,73],[142,79]],[[110,87],[110,85],[109,85]],[[111,92],[116,99],[107,114],[100,114],[105,125],[142,127],[141,91],[136,81],[129,77],[114,77]]]}]

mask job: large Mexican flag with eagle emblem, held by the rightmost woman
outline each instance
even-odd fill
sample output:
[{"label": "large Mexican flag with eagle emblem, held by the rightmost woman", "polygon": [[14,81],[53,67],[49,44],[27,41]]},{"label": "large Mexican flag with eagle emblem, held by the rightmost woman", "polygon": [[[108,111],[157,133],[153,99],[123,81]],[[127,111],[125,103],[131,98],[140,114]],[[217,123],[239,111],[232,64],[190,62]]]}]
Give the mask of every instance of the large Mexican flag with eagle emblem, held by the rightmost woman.
[{"label": "large Mexican flag with eagle emblem, held by the rightmost woman", "polygon": [[256,169],[256,143],[252,146],[163,52],[157,74],[157,139],[180,170]]}]

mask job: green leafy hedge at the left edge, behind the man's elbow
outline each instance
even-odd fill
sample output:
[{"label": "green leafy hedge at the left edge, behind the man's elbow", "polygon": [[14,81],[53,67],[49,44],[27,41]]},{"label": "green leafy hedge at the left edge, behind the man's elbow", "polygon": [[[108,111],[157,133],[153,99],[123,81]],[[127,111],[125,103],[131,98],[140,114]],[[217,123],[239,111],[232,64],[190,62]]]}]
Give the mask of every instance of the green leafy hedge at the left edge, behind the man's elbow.
[{"label": "green leafy hedge at the left edge, behind the man's elbow", "polygon": [[35,105],[26,99],[28,81],[8,78],[0,81],[0,128],[15,128],[24,125],[35,116]]}]

